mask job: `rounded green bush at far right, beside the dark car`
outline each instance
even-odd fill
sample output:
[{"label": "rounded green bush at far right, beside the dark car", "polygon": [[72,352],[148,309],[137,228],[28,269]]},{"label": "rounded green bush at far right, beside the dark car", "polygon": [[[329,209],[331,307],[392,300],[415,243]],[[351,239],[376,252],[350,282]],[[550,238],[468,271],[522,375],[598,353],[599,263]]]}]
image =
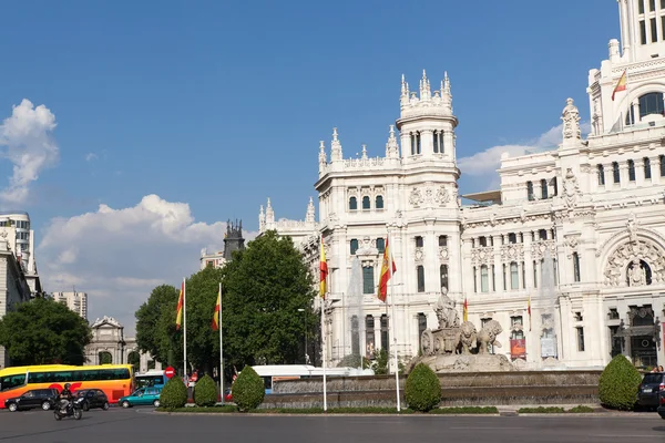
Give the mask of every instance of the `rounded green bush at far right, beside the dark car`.
[{"label": "rounded green bush at far right, beside the dark car", "polygon": [[624,356],[616,356],[605,367],[598,381],[601,404],[605,408],[630,411],[637,400],[642,375]]}]

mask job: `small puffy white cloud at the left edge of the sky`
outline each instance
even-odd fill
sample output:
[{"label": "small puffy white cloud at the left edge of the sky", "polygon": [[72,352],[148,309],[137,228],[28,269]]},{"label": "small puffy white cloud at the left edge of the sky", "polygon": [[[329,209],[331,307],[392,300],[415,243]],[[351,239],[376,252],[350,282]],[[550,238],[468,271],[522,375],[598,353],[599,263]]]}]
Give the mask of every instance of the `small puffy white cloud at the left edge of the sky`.
[{"label": "small puffy white cloud at the left edge of the sky", "polygon": [[55,115],[48,107],[35,107],[27,99],[0,125],[2,156],[13,164],[9,186],[0,192],[4,202],[24,202],[30,184],[43,169],[55,165],[59,150],[51,137],[55,125]]}]

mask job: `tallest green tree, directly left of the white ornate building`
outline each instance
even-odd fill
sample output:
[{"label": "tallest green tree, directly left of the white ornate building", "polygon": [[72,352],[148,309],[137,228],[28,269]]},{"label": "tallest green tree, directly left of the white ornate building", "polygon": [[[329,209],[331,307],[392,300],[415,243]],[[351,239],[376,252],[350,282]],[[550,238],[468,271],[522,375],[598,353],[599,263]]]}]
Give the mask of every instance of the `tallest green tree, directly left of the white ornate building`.
[{"label": "tallest green tree, directly left of the white ornate building", "polygon": [[[266,231],[234,253],[224,268],[222,326],[231,368],[293,364],[303,360],[305,331],[313,331],[314,279],[288,237]],[[305,311],[298,311],[305,309]],[[218,341],[215,351],[218,356]]]}]

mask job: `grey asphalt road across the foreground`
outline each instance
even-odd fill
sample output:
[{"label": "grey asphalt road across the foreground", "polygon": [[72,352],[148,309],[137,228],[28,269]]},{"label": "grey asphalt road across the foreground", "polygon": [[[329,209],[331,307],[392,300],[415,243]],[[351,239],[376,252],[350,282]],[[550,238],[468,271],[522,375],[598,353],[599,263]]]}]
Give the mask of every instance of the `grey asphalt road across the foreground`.
[{"label": "grey asphalt road across the foreground", "polygon": [[429,443],[655,442],[657,414],[628,416],[166,415],[152,409],[89,411],[57,422],[51,412],[0,412],[0,443]]}]

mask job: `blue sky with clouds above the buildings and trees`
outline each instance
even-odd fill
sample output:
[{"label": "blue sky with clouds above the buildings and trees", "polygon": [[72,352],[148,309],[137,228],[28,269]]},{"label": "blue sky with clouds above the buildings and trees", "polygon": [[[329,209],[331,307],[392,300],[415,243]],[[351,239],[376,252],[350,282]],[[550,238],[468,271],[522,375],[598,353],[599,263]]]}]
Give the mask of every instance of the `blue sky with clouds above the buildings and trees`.
[{"label": "blue sky with clouds above the buildings and trees", "polygon": [[[448,71],[459,158],[548,144],[569,96],[589,120],[587,72],[618,38],[616,2],[478,6],[3,3],[0,120],[24,99],[43,105],[57,126],[32,119],[30,140],[47,134],[58,156],[35,147],[41,163],[23,166],[37,173],[20,182],[28,194],[0,207],[30,213],[47,290],[76,285],[90,292],[90,317],[115,316],[131,330],[153,284],[176,284],[202,247],[219,246],[216,222],[242,218],[256,230],[268,196],[277,217],[304,218],[318,141],[329,146],[334,126],[345,156],[362,143],[383,155],[402,73],[415,89],[422,69],[432,85]],[[25,158],[17,152],[27,142],[11,143],[0,189]],[[462,194],[490,185],[462,169]]]}]

